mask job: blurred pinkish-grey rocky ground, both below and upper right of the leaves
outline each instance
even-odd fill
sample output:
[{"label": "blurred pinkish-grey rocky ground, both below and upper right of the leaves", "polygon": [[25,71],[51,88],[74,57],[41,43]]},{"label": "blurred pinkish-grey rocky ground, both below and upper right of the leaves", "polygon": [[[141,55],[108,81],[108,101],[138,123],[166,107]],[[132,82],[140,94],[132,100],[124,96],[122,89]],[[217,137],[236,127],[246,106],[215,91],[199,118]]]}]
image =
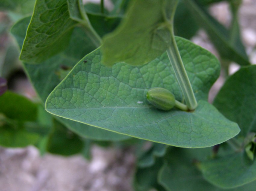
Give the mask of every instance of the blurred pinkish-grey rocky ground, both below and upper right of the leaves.
[{"label": "blurred pinkish-grey rocky ground, both below and upper right of the leaves", "polygon": [[[111,7],[111,5],[110,5]],[[256,1],[244,0],[240,9],[242,40],[252,63],[256,63]],[[229,25],[226,3],[211,7],[211,13]],[[204,31],[193,42],[217,55]],[[238,69],[233,63],[230,72]],[[220,77],[210,92],[209,101],[223,83]],[[135,156],[131,150],[92,148],[92,160],[81,156],[60,157],[46,154],[40,157],[34,147],[0,148],[0,191],[132,191]]]}]

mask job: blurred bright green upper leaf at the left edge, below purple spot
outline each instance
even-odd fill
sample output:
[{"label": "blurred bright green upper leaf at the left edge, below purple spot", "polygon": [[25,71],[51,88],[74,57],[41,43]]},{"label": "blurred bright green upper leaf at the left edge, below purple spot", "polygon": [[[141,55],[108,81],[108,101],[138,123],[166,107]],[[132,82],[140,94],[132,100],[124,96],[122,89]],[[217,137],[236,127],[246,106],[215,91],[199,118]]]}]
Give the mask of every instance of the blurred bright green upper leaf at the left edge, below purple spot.
[{"label": "blurred bright green upper leaf at the left edge, below purple spot", "polygon": [[37,106],[24,96],[6,91],[0,96],[0,113],[19,121],[35,121]]}]

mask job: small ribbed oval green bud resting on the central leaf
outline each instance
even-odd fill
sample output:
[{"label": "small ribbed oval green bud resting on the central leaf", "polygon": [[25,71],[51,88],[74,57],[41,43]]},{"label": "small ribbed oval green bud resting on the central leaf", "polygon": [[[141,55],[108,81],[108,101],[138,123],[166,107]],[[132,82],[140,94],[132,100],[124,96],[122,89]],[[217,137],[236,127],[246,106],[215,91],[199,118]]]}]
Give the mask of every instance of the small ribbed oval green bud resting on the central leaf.
[{"label": "small ribbed oval green bud resting on the central leaf", "polygon": [[148,102],[158,109],[168,111],[175,106],[173,93],[164,88],[151,88],[147,92]]}]

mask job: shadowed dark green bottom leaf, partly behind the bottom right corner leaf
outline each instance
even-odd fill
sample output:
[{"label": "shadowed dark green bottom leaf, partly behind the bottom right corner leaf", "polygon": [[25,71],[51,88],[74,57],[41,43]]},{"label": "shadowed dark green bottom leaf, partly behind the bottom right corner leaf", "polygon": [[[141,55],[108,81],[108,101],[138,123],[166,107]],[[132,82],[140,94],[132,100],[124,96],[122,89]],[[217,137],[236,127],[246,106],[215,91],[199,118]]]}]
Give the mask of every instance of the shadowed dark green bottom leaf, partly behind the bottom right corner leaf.
[{"label": "shadowed dark green bottom leaf, partly behind the bottom right corner leaf", "polygon": [[[158,174],[158,182],[168,191],[225,191],[210,184],[202,177],[195,164],[211,155],[210,148],[173,148],[165,156],[165,162]],[[199,160],[199,161],[198,161]],[[229,166],[229,164],[226,164]],[[214,167],[217,169],[218,167]],[[223,175],[224,176],[224,175]],[[230,176],[230,175],[228,175]],[[254,191],[256,181],[227,191]]]}]

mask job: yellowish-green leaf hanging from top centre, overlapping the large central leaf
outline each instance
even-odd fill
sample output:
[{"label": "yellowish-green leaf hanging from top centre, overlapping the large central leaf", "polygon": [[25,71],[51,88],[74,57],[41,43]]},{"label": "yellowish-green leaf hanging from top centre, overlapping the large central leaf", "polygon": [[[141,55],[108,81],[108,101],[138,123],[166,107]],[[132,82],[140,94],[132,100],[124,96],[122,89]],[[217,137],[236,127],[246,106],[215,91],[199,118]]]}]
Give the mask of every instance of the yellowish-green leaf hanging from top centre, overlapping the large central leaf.
[{"label": "yellowish-green leaf hanging from top centre, overlapping the large central leaf", "polygon": [[121,24],[103,39],[103,63],[142,65],[163,54],[171,43],[168,19],[175,7],[173,2],[131,1]]}]

